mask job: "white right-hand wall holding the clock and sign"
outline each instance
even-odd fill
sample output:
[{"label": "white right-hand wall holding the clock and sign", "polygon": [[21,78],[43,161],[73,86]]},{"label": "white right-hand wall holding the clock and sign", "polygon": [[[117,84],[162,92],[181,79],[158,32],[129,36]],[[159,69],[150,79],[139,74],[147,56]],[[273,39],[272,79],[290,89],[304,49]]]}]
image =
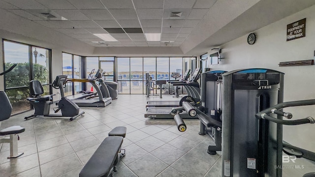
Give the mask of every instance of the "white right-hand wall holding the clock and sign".
[{"label": "white right-hand wall holding the clock and sign", "polygon": [[[286,25],[306,18],[306,37],[286,42]],[[259,20],[259,19],[257,19]],[[250,23],[250,22],[249,22]],[[246,27],[246,26],[244,26]],[[224,59],[211,70],[232,71],[241,68],[270,68],[284,72],[284,101],[315,99],[315,66],[279,67],[279,62],[314,58],[315,6],[286,17],[256,31],[256,42],[247,44],[242,36],[220,48]],[[208,51],[213,53],[213,51]],[[315,106],[286,108],[295,119],[315,118]],[[315,125],[284,126],[284,140],[315,152]]]}]

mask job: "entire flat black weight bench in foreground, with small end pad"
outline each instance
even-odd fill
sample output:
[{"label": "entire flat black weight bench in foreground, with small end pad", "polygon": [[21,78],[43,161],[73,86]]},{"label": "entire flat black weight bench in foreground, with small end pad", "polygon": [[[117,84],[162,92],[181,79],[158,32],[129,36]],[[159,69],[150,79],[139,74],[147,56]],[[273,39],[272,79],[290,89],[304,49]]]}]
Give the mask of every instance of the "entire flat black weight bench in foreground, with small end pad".
[{"label": "entire flat black weight bench in foreground, with small end pad", "polygon": [[112,177],[117,172],[120,159],[125,156],[125,150],[121,152],[125,136],[125,126],[117,126],[111,130],[85,164],[79,177]]}]

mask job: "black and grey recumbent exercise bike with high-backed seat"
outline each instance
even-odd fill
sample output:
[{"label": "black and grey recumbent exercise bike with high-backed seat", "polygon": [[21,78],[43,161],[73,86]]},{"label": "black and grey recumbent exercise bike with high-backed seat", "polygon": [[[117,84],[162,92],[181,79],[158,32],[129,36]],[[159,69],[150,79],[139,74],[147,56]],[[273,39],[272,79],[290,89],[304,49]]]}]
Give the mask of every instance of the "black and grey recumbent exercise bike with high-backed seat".
[{"label": "black and grey recumbent exercise bike with high-backed seat", "polygon": [[30,90],[34,98],[27,98],[27,100],[32,103],[35,112],[31,116],[25,117],[24,119],[27,120],[33,117],[70,117],[69,120],[72,121],[83,115],[84,112],[79,113],[80,108],[77,104],[64,97],[63,85],[65,85],[66,80],[67,76],[56,76],[56,79],[52,85],[55,89],[60,89],[61,100],[58,102],[58,109],[54,111],[57,113],[61,110],[62,115],[49,114],[50,105],[53,103],[53,95],[40,96],[44,93],[43,86],[38,80],[31,80]]}]

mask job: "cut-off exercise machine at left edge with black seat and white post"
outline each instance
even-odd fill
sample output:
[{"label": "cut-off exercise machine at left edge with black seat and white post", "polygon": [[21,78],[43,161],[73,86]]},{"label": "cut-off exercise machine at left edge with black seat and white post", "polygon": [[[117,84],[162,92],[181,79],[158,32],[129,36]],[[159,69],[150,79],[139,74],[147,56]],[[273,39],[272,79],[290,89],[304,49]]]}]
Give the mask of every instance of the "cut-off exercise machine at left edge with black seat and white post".
[{"label": "cut-off exercise machine at left edge with black seat and white post", "polygon": [[[12,65],[7,71],[0,73],[0,76],[10,72],[16,67],[17,64]],[[11,116],[12,105],[4,91],[0,91],[0,122],[7,120]],[[10,126],[0,130],[0,136],[10,135],[9,137],[4,137],[0,139],[0,143],[10,143],[10,156],[8,158],[16,158],[21,156],[24,152],[18,152],[18,140],[19,133],[25,131],[25,128],[22,126]]]}]

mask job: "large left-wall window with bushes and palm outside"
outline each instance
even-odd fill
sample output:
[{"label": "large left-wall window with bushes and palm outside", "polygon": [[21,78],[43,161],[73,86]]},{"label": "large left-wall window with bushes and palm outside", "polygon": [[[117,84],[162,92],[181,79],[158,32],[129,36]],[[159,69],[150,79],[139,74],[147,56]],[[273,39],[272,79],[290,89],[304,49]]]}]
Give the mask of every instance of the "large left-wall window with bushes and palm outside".
[{"label": "large left-wall window with bushes and palm outside", "polygon": [[12,114],[29,110],[30,80],[41,82],[44,94],[51,94],[51,50],[27,44],[3,40],[5,70],[17,64],[13,71],[5,74],[5,92],[12,104]]}]

